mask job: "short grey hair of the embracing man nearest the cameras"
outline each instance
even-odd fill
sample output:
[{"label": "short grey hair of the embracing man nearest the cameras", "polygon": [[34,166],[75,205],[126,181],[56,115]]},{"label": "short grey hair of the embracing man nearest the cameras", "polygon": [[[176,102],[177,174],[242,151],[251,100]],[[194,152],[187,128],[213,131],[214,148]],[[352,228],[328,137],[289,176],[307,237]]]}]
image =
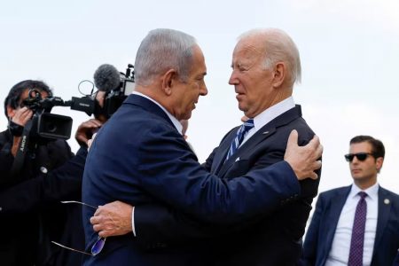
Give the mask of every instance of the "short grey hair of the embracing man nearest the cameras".
[{"label": "short grey hair of the embracing man nearest the cameras", "polygon": [[158,28],[145,36],[138,48],[135,61],[135,82],[147,85],[153,78],[168,69],[176,69],[185,82],[190,74],[193,47],[197,45],[192,35],[168,28]]}]

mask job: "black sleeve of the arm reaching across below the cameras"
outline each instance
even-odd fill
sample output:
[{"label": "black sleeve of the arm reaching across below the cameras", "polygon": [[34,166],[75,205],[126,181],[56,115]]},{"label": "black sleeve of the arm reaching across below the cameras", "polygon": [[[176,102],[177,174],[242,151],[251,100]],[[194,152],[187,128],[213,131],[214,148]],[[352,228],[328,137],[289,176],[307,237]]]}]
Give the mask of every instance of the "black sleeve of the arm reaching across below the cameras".
[{"label": "black sleeve of the arm reaching across below the cameras", "polygon": [[49,202],[81,198],[87,150],[81,148],[70,160],[46,175],[16,184],[0,192],[0,217],[19,215]]}]

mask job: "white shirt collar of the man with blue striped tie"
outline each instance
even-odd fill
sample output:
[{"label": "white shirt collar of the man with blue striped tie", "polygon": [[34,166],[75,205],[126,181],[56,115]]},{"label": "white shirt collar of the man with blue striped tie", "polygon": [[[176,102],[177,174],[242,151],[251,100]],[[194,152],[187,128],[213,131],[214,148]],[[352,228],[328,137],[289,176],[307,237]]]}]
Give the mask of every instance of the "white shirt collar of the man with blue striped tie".
[{"label": "white shirt collar of the man with blue striped tie", "polygon": [[254,117],[254,129],[256,131],[262,129],[262,127],[268,122],[278,117],[278,115],[286,113],[286,111],[292,109],[293,107],[295,107],[295,103],[293,102],[292,96],[282,100],[274,106],[270,106],[262,113],[259,113]]}]

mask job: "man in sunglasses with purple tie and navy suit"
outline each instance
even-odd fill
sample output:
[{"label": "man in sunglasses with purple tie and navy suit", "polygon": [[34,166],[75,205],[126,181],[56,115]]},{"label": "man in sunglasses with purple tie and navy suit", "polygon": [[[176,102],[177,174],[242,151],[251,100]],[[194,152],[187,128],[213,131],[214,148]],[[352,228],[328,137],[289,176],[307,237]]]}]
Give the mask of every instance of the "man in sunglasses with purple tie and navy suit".
[{"label": "man in sunglasses with purple tie and navy suit", "polygon": [[303,265],[392,265],[399,248],[399,196],[377,182],[384,156],[378,139],[350,140],[345,158],[354,183],[320,193]]}]

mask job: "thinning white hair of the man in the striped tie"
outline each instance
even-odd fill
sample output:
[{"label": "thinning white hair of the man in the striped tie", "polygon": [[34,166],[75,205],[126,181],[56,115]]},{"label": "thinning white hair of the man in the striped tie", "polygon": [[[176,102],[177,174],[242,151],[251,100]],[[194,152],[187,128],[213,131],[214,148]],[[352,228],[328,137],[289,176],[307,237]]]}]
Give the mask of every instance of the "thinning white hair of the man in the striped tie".
[{"label": "thinning white hair of the man in the striped tie", "polygon": [[270,69],[278,62],[285,62],[291,85],[301,82],[301,59],[293,39],[278,28],[256,28],[239,36],[239,41],[252,36],[262,37],[265,51],[264,65]]}]

